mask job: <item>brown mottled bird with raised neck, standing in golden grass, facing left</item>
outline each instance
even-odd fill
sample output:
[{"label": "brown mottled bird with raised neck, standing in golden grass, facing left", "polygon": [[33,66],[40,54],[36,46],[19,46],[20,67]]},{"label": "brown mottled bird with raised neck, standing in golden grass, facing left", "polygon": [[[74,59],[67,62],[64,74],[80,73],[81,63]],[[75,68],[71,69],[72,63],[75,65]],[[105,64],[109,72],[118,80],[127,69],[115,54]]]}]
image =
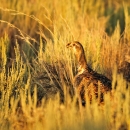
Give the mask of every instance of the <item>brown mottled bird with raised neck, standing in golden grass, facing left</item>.
[{"label": "brown mottled bird with raised neck, standing in golden grass, facing left", "polygon": [[104,94],[112,90],[111,80],[89,67],[80,42],[72,41],[67,43],[66,47],[72,48],[76,57],[77,74],[74,76],[73,86],[81,104],[83,106],[86,104],[86,95],[90,102],[93,98],[99,99],[99,103],[103,102]]}]

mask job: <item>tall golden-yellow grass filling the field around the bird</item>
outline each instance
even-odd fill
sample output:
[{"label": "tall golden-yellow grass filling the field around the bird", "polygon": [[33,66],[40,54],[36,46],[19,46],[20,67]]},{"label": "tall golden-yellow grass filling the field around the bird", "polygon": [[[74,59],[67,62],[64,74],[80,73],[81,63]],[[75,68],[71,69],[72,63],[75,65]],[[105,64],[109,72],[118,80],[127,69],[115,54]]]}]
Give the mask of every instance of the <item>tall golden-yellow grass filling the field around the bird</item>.
[{"label": "tall golden-yellow grass filling the field around the bird", "polygon": [[[1,130],[130,129],[130,86],[118,74],[129,55],[129,1],[119,2],[1,1]],[[108,36],[111,10],[122,7],[123,35],[117,22]],[[73,40],[83,44],[88,64],[112,80],[113,98],[105,95],[104,105],[79,110],[72,99],[76,62],[66,43]]]}]

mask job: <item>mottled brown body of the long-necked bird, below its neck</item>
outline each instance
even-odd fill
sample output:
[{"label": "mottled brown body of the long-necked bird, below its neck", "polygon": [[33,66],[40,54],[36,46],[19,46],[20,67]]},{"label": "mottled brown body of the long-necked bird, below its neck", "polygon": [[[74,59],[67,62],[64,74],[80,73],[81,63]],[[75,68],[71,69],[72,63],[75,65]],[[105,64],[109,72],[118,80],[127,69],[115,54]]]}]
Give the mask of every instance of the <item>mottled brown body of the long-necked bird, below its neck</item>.
[{"label": "mottled brown body of the long-necked bird, below its neck", "polygon": [[86,94],[92,99],[92,96],[98,97],[100,93],[100,102],[103,101],[103,95],[111,91],[111,80],[95,71],[84,71],[74,78],[74,86],[81,100],[85,102]]}]

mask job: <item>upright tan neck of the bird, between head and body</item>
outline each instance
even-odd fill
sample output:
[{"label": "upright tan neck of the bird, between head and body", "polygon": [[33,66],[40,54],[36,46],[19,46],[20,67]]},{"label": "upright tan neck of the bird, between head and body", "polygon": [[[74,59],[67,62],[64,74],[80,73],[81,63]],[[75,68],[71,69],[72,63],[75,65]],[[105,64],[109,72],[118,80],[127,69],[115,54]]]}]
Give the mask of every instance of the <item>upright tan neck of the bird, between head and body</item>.
[{"label": "upright tan neck of the bird, between head and body", "polygon": [[78,62],[78,74],[81,74],[84,71],[89,71],[89,67],[84,52],[78,53],[76,55],[76,59]]}]

